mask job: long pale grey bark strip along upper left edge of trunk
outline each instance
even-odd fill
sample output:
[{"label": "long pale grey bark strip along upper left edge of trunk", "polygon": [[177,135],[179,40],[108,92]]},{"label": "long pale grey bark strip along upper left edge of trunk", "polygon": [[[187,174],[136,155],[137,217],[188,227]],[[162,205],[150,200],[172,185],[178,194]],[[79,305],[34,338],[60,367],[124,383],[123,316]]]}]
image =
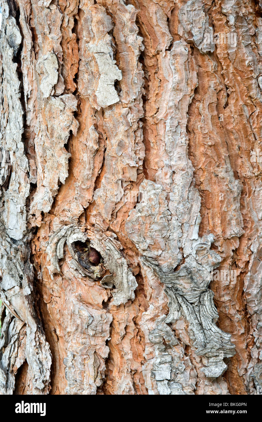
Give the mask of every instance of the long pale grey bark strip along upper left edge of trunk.
[{"label": "long pale grey bark strip along upper left edge of trunk", "polygon": [[[2,183],[9,177],[8,190],[3,190],[4,210],[2,222],[8,235],[21,239],[27,232],[26,199],[29,195],[28,161],[22,142],[23,108],[21,105],[20,81],[17,64],[13,61],[21,43],[21,34],[16,20],[8,14],[6,5],[3,11],[0,51],[3,58],[2,84],[0,92],[0,139],[3,157],[10,157],[10,163],[1,163]],[[8,176],[11,166],[11,176]]]}]

